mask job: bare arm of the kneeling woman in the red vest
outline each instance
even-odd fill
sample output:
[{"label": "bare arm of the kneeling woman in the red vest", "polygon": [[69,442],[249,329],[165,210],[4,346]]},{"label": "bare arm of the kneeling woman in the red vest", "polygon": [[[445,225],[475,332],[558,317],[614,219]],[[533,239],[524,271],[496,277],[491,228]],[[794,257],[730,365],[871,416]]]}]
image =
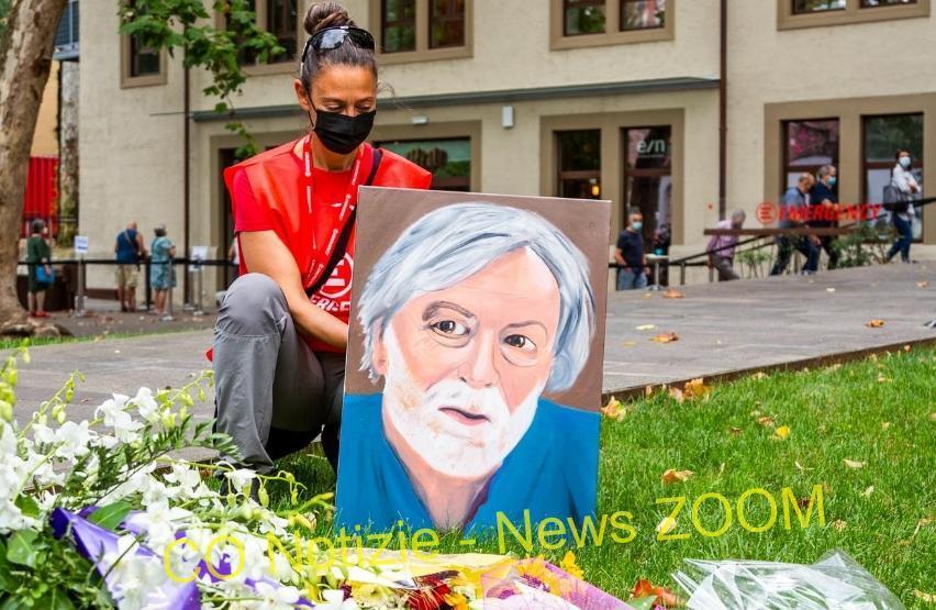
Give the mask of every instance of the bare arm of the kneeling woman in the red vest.
[{"label": "bare arm of the kneeling woman in the red vest", "polygon": [[348,325],[309,301],[296,259],[275,232],[241,233],[241,256],[248,273],[264,274],[279,285],[300,331],[328,345],[347,347]]}]

